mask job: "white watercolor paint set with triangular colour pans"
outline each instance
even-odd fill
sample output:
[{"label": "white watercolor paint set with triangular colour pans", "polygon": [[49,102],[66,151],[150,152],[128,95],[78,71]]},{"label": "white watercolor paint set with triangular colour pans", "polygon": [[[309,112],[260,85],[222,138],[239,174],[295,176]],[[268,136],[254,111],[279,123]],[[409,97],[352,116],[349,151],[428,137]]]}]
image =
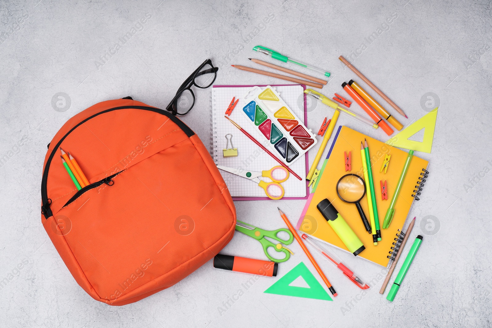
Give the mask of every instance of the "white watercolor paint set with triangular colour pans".
[{"label": "white watercolor paint set with triangular colour pans", "polygon": [[[252,95],[249,96],[251,92]],[[245,99],[243,114],[270,140],[270,148],[280,155],[286,165],[302,157],[316,144],[316,135],[307,129],[273,87],[254,87],[249,90]]]}]

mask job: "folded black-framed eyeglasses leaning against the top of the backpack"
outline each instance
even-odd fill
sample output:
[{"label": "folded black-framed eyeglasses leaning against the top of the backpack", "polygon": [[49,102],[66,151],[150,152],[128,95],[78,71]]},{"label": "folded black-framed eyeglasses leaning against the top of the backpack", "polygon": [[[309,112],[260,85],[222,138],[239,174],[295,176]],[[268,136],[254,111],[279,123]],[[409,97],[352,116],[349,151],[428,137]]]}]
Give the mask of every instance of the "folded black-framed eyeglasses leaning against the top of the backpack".
[{"label": "folded black-framed eyeglasses leaning against the top of the backpack", "polygon": [[218,67],[214,67],[212,60],[205,60],[190,76],[183,82],[176,92],[173,100],[167,105],[166,110],[173,115],[187,114],[195,104],[195,94],[191,90],[192,86],[207,89],[214,83],[217,77]]}]

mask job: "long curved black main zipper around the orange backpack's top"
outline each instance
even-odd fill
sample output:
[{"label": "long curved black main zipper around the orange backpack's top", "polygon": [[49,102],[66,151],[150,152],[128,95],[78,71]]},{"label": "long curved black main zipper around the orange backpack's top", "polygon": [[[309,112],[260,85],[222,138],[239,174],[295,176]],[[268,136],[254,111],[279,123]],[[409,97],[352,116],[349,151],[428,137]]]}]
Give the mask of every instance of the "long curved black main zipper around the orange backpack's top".
[{"label": "long curved black main zipper around the orange backpack's top", "polygon": [[[77,125],[75,125],[74,127],[72,127],[70,129],[70,131],[68,131],[63,137],[62,139],[60,139],[60,141],[57,143],[57,145],[54,147],[53,151],[51,152],[50,156],[48,157],[48,160],[46,161],[46,165],[44,167],[44,171],[43,171],[43,178],[41,180],[41,202],[42,202],[42,206],[48,204],[48,195],[47,195],[47,191],[46,191],[46,184],[48,183],[48,171],[50,169],[50,165],[51,165],[51,161],[53,160],[53,157],[55,156],[55,153],[57,151],[58,148],[60,148],[60,146],[62,145],[62,142],[63,140],[65,140],[65,138],[70,134],[72,133],[73,130],[75,130],[78,126],[80,126],[81,124],[87,122],[89,119],[93,119],[94,117],[98,116],[98,115],[101,115],[101,114],[104,114],[104,113],[108,113],[108,112],[112,112],[114,110],[119,110],[119,109],[143,109],[143,110],[148,110],[148,111],[152,111],[152,112],[155,112],[155,113],[160,113],[164,116],[167,116],[168,118],[170,118],[174,123],[176,123],[183,131],[184,133],[186,133],[186,135],[188,137],[191,137],[192,135],[194,135],[195,133],[186,125],[184,124],[184,122],[181,120],[181,119],[178,119],[177,117],[175,117],[174,115],[166,112],[166,111],[163,111],[162,109],[160,108],[156,108],[156,107],[150,107],[150,106],[119,106],[119,107],[113,107],[113,108],[110,108],[110,109],[106,109],[104,111],[101,111],[101,112],[98,112],[98,113],[95,113],[93,114],[92,116],[80,121]],[[94,182],[94,183],[97,183],[97,182]],[[85,188],[85,187],[84,187]],[[81,189],[82,190],[82,189]],[[49,206],[47,207],[46,209],[46,212],[45,212],[45,219],[48,219],[49,217],[51,217],[53,214],[51,212],[51,209],[49,208]]]}]

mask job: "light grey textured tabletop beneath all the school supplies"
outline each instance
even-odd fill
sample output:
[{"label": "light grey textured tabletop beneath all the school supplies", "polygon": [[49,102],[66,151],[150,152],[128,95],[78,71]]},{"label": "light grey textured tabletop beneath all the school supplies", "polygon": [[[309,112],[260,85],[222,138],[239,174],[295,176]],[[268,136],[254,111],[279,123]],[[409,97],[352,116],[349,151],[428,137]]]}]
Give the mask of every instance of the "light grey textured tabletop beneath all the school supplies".
[{"label": "light grey textured tabletop beneath all the school supplies", "polygon": [[[0,279],[7,278],[0,326],[491,327],[491,2],[207,2],[0,3]],[[374,286],[362,292],[317,256],[337,288],[333,302],[264,294],[274,280],[261,277],[224,305],[250,276],[214,269],[210,261],[137,303],[111,307],[93,300],[41,225],[46,144],[67,119],[99,101],[130,95],[164,108],[207,58],[220,67],[216,84],[280,83],[229,66],[252,66],[248,57],[268,60],[251,51],[258,44],[331,71],[322,90],[327,95],[356,78],[338,60],[351,57],[405,111],[408,119],[386,106],[405,126],[427,113],[426,101],[440,103],[432,152],[417,153],[430,161],[431,173],[409,215],[417,216],[410,243],[417,234],[424,241],[397,298],[391,303],[379,295],[381,267],[336,250]],[[184,121],[207,142],[208,90],[194,91],[197,102]],[[329,113],[318,106],[308,127],[317,130]],[[338,122],[385,140],[382,131],[354,120]],[[236,208],[241,220],[274,229],[277,206],[295,221],[304,203],[236,202]],[[304,261],[318,277],[299,245],[292,249],[296,255],[279,276]],[[263,257],[246,236],[236,236],[224,253]]]}]

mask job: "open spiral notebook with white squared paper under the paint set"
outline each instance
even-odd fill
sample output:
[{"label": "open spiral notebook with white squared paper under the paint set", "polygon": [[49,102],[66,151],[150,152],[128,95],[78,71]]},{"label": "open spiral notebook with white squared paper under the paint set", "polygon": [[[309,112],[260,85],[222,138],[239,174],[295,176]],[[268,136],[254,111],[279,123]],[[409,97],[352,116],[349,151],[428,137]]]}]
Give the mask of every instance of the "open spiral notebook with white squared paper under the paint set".
[{"label": "open spiral notebook with white squared paper under the paint set", "polygon": [[[270,170],[279,165],[263,149],[255,145],[229,120],[224,118],[225,111],[233,97],[239,99],[238,104],[233,110],[230,118],[244,128],[251,136],[262,143],[267,149],[268,140],[258,131],[253,129],[247,121],[246,116],[241,113],[246,105],[245,95],[254,86],[214,86],[210,91],[210,153],[217,165],[231,168],[241,168],[250,171]],[[259,86],[264,88],[266,86]],[[305,86],[302,85],[277,85],[276,91],[282,100],[290,107],[297,117],[304,119],[307,125],[307,108],[304,93]],[[232,144],[238,149],[238,156],[223,157],[222,149],[226,148],[226,134],[232,134]],[[229,146],[230,147],[230,146]],[[309,194],[307,187],[307,153],[304,158],[299,158],[293,162],[291,168],[302,180],[297,179],[292,174],[281,185],[285,190],[282,199],[307,199]],[[269,200],[264,190],[257,183],[249,179],[236,176],[232,173],[219,170],[224,178],[227,188],[234,200]],[[260,178],[267,182],[268,178]]]}]

